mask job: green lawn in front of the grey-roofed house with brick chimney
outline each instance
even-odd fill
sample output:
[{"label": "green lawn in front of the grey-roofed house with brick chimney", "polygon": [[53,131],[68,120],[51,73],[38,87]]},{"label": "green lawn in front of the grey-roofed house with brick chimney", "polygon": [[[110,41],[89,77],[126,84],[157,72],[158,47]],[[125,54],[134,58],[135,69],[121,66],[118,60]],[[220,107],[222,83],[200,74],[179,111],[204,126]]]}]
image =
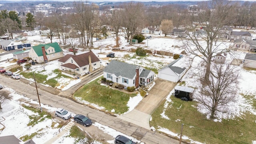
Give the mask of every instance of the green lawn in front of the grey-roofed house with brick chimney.
[{"label": "green lawn in front of the grey-roofed house with brick chimney", "polygon": [[119,90],[114,90],[108,86],[102,86],[98,81],[102,77],[84,85],[82,88],[74,93],[75,97],[80,97],[87,102],[103,106],[106,110],[115,110],[116,114],[123,114],[128,111],[126,106],[130,97],[136,96],[136,94],[127,94]]}]

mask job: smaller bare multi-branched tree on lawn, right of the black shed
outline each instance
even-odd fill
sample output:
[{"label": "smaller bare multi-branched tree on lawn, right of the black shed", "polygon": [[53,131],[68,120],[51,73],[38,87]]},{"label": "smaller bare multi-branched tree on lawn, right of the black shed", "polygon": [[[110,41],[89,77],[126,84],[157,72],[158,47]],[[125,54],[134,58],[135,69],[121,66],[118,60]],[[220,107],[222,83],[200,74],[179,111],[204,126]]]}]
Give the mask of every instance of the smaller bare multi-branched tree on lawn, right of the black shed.
[{"label": "smaller bare multi-branched tree on lawn, right of the black shed", "polygon": [[236,101],[239,73],[230,64],[213,64],[210,73],[210,83],[198,87],[196,100],[203,108],[209,110],[210,119],[214,119],[216,112],[226,112],[229,104]]}]

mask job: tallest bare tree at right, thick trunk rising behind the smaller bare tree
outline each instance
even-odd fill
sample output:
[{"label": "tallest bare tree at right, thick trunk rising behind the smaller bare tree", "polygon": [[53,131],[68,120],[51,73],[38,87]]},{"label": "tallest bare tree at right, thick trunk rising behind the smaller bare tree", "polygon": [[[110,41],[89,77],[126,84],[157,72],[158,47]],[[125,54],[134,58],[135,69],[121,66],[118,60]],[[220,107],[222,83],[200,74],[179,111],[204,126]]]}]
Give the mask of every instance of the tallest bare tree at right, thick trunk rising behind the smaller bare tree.
[{"label": "tallest bare tree at right, thick trunk rising behind the smaller bare tree", "polygon": [[[209,4],[210,2],[210,4]],[[214,46],[214,42],[218,39],[218,34],[223,26],[229,25],[234,21],[234,15],[232,10],[235,7],[234,4],[230,4],[230,1],[226,0],[212,0],[201,3],[201,10],[198,12],[198,20],[205,26],[205,37],[198,38],[196,35],[191,35],[187,32],[187,38],[182,39],[184,48],[188,53],[194,56],[199,56],[206,64],[205,68],[205,82],[209,82],[209,76],[211,71],[211,59],[216,55],[224,52],[230,52],[231,49],[220,48],[224,41]],[[208,6],[210,5],[210,9]],[[188,26],[188,31],[196,31],[196,27],[191,23]],[[206,46],[202,43],[206,43]],[[227,43],[227,42],[226,42]],[[203,56],[200,56],[203,55]]]}]

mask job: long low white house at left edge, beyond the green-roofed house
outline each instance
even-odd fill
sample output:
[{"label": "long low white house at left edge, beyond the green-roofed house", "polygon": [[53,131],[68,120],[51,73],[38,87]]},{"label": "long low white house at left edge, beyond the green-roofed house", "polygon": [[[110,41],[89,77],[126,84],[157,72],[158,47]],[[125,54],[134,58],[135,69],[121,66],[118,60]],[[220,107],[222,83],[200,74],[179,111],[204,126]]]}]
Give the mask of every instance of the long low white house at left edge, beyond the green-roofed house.
[{"label": "long low white house at left edge, beyond the green-roofed house", "polygon": [[0,48],[3,50],[18,50],[20,48],[30,48],[30,43],[13,42],[11,40],[0,41]]}]

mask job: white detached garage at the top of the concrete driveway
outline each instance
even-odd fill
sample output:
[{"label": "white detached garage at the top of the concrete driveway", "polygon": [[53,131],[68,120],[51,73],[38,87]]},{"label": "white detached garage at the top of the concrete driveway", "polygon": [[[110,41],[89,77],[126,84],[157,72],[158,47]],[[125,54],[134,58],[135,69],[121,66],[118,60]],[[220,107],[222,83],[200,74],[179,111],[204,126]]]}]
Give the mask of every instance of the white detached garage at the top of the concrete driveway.
[{"label": "white detached garage at the top of the concrete driveway", "polygon": [[174,60],[164,68],[158,70],[158,78],[171,82],[178,82],[188,70],[183,58]]}]

